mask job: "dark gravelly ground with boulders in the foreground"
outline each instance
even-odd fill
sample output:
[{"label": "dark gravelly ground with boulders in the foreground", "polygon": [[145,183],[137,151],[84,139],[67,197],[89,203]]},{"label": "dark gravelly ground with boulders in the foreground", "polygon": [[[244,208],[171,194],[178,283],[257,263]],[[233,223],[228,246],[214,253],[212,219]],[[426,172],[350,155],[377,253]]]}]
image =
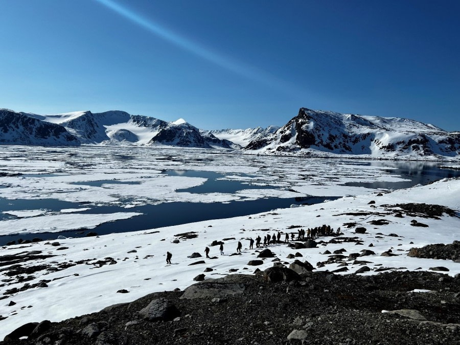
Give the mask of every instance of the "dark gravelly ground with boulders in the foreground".
[{"label": "dark gravelly ground with boulders in the foreground", "polygon": [[2,344],[460,343],[458,274],[339,275],[300,261],[293,269],[275,265],[27,324]]}]

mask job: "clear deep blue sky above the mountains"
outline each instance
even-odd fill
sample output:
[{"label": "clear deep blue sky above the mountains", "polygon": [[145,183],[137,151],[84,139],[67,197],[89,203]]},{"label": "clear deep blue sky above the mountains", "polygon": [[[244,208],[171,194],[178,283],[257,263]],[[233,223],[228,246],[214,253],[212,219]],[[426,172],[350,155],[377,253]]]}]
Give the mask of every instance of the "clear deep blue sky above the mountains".
[{"label": "clear deep blue sky above the mountains", "polygon": [[204,128],[298,108],[460,130],[460,1],[2,0],[0,107]]}]

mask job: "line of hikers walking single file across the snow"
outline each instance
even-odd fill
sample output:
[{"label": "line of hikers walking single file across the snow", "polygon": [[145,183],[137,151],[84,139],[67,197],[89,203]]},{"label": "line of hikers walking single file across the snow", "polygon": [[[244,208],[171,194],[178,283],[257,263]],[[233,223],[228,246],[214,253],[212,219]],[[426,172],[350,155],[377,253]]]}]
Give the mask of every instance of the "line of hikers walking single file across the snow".
[{"label": "line of hikers walking single file across the snow", "polygon": [[[324,225],[316,226],[313,228],[307,228],[307,231],[305,231],[305,229],[303,228],[300,228],[297,230],[297,233],[298,233],[297,240],[305,240],[305,239],[314,239],[319,236],[333,235],[334,229],[331,228],[330,225],[324,224]],[[337,228],[337,234],[339,233],[340,233],[340,227]],[[291,241],[294,241],[294,239],[295,239],[295,233],[291,233]],[[261,245],[262,238],[260,236],[256,237],[256,241],[254,241],[252,237],[249,238],[249,249],[254,249],[254,242],[256,242],[256,248],[265,247],[269,245],[270,243],[272,244],[275,244],[277,242],[282,243],[281,242],[281,232],[278,232],[278,234],[273,233],[273,235],[267,234],[266,236],[264,236],[264,241],[262,245]],[[286,232],[285,237],[284,237],[284,243],[287,243],[287,242],[289,242],[289,233]],[[243,245],[241,244],[240,241],[238,241],[237,252],[241,252],[242,248],[243,248]],[[224,255],[223,242],[220,242],[219,251],[220,251],[220,255]],[[210,252],[209,247],[206,247],[204,249],[204,253],[206,254],[206,258],[208,259],[209,259],[209,252]],[[172,254],[168,251],[166,254],[167,264],[171,264],[171,258],[172,258]]]}]

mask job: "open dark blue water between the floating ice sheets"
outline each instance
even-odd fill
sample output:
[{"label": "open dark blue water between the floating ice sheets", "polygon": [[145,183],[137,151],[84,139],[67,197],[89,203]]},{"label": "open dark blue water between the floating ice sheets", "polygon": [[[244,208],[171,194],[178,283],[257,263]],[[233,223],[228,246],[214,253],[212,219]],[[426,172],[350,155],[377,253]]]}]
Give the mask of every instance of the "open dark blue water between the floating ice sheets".
[{"label": "open dark blue water between the floating ice sheets", "polygon": [[[384,171],[390,175],[407,178],[409,181],[401,182],[348,182],[346,186],[365,187],[372,189],[401,189],[413,187],[419,184],[426,184],[442,178],[460,177],[459,170],[440,169],[438,165],[424,162],[343,162],[347,165],[357,166],[379,166],[391,167],[394,169],[385,169]],[[170,176],[188,176],[207,178],[202,185],[187,189],[178,190],[177,192],[188,193],[235,193],[243,189],[280,189],[274,186],[256,186],[251,185],[250,181],[234,181],[234,180],[219,180],[225,174],[209,171],[193,171],[193,170],[168,170],[163,172]],[[236,175],[232,173],[231,175]],[[238,174],[239,176],[250,176]],[[32,175],[30,175],[32,176]],[[38,175],[37,176],[44,176]],[[140,182],[127,182],[118,180],[100,180],[74,182],[74,185],[87,185],[101,187],[104,183],[116,184],[138,184]],[[222,219],[236,216],[245,216],[255,213],[267,212],[278,208],[288,208],[291,204],[314,204],[328,200],[337,199],[338,197],[304,197],[304,198],[263,198],[258,200],[242,200],[232,201],[228,203],[213,202],[169,202],[158,205],[142,205],[135,208],[125,209],[116,205],[87,205],[85,203],[74,203],[61,201],[56,199],[40,199],[40,200],[7,200],[0,198],[1,211],[17,211],[17,210],[39,210],[46,209],[48,211],[59,212],[62,209],[75,209],[89,207],[90,210],[81,211],[81,214],[108,214],[115,212],[139,212],[141,216],[136,216],[130,219],[117,220],[109,223],[101,224],[100,226],[85,230],[85,231],[70,231],[63,233],[39,233],[28,235],[9,235],[0,236],[0,245],[9,241],[22,238],[23,240],[39,237],[42,239],[56,239],[62,235],[65,237],[82,237],[89,231],[97,232],[99,235],[109,233],[122,233],[130,231],[139,231],[152,229],[163,226],[171,226],[178,224],[186,224],[191,222]],[[124,200],[129,203],[135,200]],[[0,220],[15,219],[14,216],[0,213]],[[36,217],[39,221],[40,217]]]}]

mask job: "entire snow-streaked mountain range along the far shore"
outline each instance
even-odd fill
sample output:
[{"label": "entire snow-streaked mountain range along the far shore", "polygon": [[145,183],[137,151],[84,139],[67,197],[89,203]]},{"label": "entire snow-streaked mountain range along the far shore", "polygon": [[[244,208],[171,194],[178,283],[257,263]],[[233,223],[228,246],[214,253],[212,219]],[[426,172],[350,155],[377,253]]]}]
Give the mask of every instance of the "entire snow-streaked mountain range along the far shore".
[{"label": "entire snow-streaked mountain range along the far shore", "polygon": [[200,130],[124,111],[55,115],[0,109],[0,144],[137,145],[243,150],[258,154],[460,158],[460,132],[421,122],[301,108],[283,127]]}]

